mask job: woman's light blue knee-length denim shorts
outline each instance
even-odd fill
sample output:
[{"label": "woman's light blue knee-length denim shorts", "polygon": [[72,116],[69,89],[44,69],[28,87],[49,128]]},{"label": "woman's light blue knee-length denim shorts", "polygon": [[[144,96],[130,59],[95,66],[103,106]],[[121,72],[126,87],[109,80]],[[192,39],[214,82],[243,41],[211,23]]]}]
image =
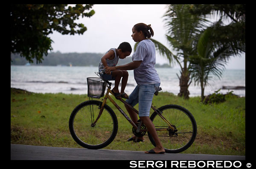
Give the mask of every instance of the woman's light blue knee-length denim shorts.
[{"label": "woman's light blue knee-length denim shorts", "polygon": [[137,85],[126,102],[132,107],[139,103],[139,116],[149,116],[153,96],[159,86],[160,83]]}]

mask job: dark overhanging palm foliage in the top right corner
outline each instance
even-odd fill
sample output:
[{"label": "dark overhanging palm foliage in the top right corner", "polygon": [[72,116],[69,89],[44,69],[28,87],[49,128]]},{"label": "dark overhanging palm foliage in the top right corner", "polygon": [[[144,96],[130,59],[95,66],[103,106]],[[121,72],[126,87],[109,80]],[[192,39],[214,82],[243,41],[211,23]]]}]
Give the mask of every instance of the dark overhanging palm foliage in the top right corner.
[{"label": "dark overhanging palm foliage in the top right corner", "polygon": [[[230,46],[234,54],[245,52],[245,4],[193,4],[192,14],[219,14],[220,20],[213,28],[212,39],[216,45]],[[223,20],[230,18],[228,25]]]}]

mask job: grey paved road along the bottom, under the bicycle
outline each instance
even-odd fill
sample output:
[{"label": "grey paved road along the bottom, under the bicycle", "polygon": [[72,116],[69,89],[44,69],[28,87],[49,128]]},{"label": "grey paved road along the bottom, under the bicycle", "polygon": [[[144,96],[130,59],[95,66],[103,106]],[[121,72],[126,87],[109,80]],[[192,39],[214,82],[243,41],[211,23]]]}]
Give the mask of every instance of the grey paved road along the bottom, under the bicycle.
[{"label": "grey paved road along the bottom, under the bicycle", "polygon": [[11,160],[245,160],[245,156],[144,152],[11,144]]}]

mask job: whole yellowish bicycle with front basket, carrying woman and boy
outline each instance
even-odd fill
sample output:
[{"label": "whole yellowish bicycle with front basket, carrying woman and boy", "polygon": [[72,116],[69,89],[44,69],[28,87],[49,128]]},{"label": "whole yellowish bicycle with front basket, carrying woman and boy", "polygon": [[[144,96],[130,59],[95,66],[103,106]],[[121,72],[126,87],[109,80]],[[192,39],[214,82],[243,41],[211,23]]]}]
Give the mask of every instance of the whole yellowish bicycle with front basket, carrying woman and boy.
[{"label": "whole yellowish bicycle with front basket, carrying woman and boy", "polygon": [[[99,99],[104,96],[105,89],[108,87],[104,100],[102,102],[89,99],[89,101],[84,101],[76,106],[69,119],[70,134],[77,144],[87,149],[102,149],[111,144],[117,134],[118,121],[114,111],[106,104],[107,99],[109,99],[132,125],[132,132],[136,136],[134,142],[137,142],[137,138],[144,136],[147,132],[145,125],[140,120],[135,124],[116,104],[109,95],[109,93],[113,95],[112,83],[102,79],[100,73],[102,72],[96,72],[99,78],[87,78],[87,95],[89,98]],[[162,90],[161,87],[154,94],[157,95],[160,90]],[[139,114],[123,99],[118,100]],[[189,110],[174,104],[164,105],[158,109],[152,104],[151,109],[154,110],[154,113],[151,114],[150,119],[166,153],[183,152],[192,145],[197,134],[197,125]],[[149,132],[148,138],[156,146]]]}]

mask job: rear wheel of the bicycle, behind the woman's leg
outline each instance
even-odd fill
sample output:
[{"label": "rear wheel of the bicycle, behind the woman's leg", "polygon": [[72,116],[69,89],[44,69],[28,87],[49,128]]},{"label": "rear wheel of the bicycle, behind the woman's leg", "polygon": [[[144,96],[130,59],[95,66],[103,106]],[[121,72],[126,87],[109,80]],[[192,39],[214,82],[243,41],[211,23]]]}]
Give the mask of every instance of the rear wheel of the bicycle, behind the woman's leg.
[{"label": "rear wheel of the bicycle, behind the woman's leg", "polygon": [[[154,112],[150,119],[157,130],[157,135],[167,153],[179,153],[188,149],[195,140],[197,125],[193,115],[184,107],[178,105],[165,105],[158,110],[163,117],[175,128],[172,131],[166,121]],[[156,146],[154,139],[148,132],[151,143]]]}]

